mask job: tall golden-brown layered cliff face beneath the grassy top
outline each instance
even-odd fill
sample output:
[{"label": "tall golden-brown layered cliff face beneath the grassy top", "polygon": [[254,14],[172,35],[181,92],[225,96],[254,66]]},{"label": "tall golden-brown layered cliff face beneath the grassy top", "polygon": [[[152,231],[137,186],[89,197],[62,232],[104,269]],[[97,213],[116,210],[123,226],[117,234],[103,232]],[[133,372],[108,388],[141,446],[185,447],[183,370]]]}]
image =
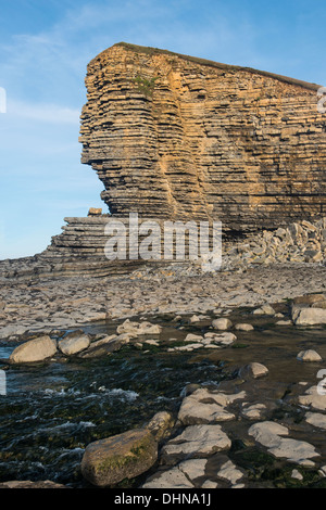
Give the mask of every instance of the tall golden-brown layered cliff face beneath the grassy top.
[{"label": "tall golden-brown layered cliff face beneath the grassy top", "polygon": [[118,43],[88,65],[82,162],[113,215],[269,229],[326,211],[318,86]]}]

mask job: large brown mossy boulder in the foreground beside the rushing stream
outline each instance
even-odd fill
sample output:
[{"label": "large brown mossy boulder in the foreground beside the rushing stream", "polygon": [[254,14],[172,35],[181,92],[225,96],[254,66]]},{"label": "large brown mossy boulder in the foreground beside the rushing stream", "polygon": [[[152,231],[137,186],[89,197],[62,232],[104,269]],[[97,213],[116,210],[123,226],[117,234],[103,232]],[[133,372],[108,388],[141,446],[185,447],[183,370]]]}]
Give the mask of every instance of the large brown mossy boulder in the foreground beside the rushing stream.
[{"label": "large brown mossy boulder in the foreground beside the rushing stream", "polygon": [[148,429],[90,443],[83,456],[83,476],[92,485],[109,487],[148,471],[158,459],[158,443]]}]

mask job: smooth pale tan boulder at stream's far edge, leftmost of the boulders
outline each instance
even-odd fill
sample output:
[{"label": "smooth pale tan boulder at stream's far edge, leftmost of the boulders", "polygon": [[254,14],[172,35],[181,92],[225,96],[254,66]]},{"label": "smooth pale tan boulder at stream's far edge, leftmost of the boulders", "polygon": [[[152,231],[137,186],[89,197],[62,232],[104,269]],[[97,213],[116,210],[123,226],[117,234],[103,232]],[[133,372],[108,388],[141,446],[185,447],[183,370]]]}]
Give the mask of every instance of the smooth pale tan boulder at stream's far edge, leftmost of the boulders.
[{"label": "smooth pale tan boulder at stream's far edge, leftmost of the boulders", "polygon": [[57,341],[43,335],[18,345],[10,355],[9,361],[12,364],[43,361],[55,353]]}]

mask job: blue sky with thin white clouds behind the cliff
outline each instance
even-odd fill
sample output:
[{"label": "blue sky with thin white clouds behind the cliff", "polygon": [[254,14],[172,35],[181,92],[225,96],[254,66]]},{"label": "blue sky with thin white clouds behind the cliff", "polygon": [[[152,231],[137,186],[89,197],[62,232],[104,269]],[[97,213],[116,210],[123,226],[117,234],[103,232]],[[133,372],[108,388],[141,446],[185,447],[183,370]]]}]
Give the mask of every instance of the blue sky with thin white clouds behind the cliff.
[{"label": "blue sky with thin white clouds behind the cliff", "polygon": [[325,0],[0,0],[0,259],[102,207],[80,164],[87,63],[126,41],[326,85]]}]

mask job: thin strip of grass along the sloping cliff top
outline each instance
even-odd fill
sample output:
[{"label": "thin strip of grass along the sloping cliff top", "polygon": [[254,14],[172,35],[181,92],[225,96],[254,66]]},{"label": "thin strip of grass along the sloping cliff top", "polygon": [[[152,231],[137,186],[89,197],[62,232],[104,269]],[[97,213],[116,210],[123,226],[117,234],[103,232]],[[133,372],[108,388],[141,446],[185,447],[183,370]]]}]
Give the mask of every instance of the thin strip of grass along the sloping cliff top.
[{"label": "thin strip of grass along the sloping cliff top", "polygon": [[[184,55],[181,53],[175,53],[168,50],[161,50],[160,48],[151,48],[146,46],[137,46],[130,44],[129,42],[117,42],[114,46],[120,46],[125,48],[126,50],[135,51],[136,53],[146,53],[148,55],[155,55],[155,54],[166,54],[171,56],[178,56],[179,59],[184,59],[189,62],[195,62],[196,64],[208,65],[211,67],[217,67],[218,69],[226,69],[226,71],[244,71],[252,74],[259,74],[262,76],[267,76],[269,78],[278,79],[279,81],[284,81],[289,85],[297,85],[299,87],[303,87],[310,90],[317,90],[321,86],[316,84],[310,84],[308,81],[302,81],[300,79],[290,78],[288,76],[277,75],[274,73],[268,73],[267,71],[259,71],[253,69],[252,67],[242,67],[240,65],[230,65],[230,64],[222,64],[221,62],[214,62],[205,59],[200,59],[197,56]],[[104,52],[108,50],[104,50]],[[102,53],[104,53],[102,52]]]}]

